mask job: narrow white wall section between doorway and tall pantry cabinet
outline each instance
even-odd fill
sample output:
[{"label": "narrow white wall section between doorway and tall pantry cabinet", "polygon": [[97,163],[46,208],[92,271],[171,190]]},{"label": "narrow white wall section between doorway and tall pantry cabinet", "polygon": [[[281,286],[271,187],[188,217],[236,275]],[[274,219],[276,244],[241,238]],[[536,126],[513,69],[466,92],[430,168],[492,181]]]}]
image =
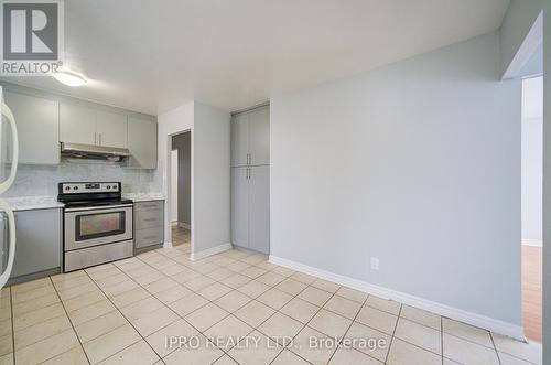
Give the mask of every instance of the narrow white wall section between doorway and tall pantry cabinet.
[{"label": "narrow white wall section between doorway and tall pantry cabinet", "polygon": [[195,254],[230,243],[229,120],[227,111],[194,104],[192,234]]}]

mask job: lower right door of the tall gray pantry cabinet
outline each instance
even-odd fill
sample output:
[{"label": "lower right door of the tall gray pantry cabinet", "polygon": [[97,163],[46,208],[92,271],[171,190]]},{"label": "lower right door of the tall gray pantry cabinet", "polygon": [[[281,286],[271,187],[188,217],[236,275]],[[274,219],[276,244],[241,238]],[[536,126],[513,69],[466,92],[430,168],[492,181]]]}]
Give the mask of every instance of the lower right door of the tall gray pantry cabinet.
[{"label": "lower right door of the tall gray pantry cabinet", "polygon": [[249,248],[270,254],[270,167],[249,173]]}]

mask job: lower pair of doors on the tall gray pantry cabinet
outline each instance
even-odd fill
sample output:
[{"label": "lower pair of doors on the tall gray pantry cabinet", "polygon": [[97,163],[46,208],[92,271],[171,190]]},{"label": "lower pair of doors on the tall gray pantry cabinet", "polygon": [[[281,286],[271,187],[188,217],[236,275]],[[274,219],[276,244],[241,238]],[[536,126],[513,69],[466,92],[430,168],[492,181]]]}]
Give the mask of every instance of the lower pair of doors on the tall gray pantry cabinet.
[{"label": "lower pair of doors on the tall gray pantry cabinet", "polygon": [[231,169],[231,244],[270,253],[270,167]]}]

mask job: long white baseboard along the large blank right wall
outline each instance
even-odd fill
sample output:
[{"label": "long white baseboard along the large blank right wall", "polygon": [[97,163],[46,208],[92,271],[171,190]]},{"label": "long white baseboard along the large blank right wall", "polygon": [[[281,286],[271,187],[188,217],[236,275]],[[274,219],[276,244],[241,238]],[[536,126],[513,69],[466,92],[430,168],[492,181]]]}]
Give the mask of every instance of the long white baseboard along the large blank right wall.
[{"label": "long white baseboard along the large blank right wall", "polygon": [[420,308],[425,311],[433,312],[460,322],[468,323],[482,329],[486,329],[491,332],[503,334],[519,341],[525,340],[525,333],[521,325],[504,322],[489,316],[464,311],[462,309],[433,302],[423,298],[414,297],[392,289],[375,286],[367,281],[361,281],[342,275],[333,273],[331,271],[317,269],[304,264],[291,261],[273,255],[270,255],[270,262],[284,266],[295,271],[301,271],[307,275],[312,275],[322,278],[324,280],[333,281],[335,283],[346,286],[356,290],[365,291],[367,293],[380,298],[391,299],[403,304]]}]

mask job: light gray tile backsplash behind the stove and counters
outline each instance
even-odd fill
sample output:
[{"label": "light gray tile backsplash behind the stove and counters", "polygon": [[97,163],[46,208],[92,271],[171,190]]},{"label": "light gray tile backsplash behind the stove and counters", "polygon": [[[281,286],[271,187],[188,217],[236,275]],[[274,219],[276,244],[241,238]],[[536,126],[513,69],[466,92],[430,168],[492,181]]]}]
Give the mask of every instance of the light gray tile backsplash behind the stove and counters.
[{"label": "light gray tile backsplash behind the stove and counters", "polygon": [[123,193],[159,192],[161,186],[155,180],[155,170],[126,169],[102,160],[63,159],[54,167],[20,164],[13,185],[2,196],[56,196],[57,183],[63,181],[120,181]]}]

